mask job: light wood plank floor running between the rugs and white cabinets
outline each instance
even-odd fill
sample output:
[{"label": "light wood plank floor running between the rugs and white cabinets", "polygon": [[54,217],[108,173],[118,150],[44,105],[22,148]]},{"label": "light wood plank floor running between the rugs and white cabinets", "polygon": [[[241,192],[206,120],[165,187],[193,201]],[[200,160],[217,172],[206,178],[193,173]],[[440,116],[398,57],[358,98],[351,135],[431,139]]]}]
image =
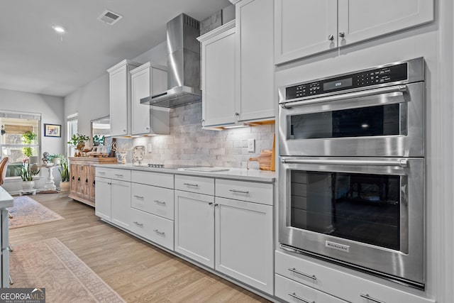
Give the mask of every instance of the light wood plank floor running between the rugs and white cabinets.
[{"label": "light wood plank floor running between the rugs and white cabinets", "polygon": [[58,238],[127,302],[268,302],[105,224],[90,206],[58,194],[31,197],[65,220],[11,229],[13,248]]}]

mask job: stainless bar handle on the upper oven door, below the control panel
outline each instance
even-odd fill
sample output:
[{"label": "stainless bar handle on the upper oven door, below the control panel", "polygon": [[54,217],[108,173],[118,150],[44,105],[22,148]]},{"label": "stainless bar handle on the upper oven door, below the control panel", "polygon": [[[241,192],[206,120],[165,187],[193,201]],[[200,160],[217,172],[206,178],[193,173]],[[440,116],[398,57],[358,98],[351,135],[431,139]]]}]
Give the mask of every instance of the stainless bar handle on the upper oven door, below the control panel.
[{"label": "stainless bar handle on the upper oven door, below the control panel", "polygon": [[343,99],[353,99],[359,97],[367,97],[367,96],[374,96],[377,94],[390,94],[393,92],[400,92],[404,94],[407,91],[406,85],[397,85],[394,87],[382,87],[380,89],[368,89],[362,92],[350,92],[346,94],[337,94],[336,96],[329,96],[329,97],[321,97],[321,98],[314,98],[314,99],[307,99],[301,101],[292,101],[288,103],[281,103],[281,106],[285,109],[291,109],[292,107],[297,106],[304,106],[308,104],[316,104],[322,102],[329,102],[329,101],[338,101]]}]

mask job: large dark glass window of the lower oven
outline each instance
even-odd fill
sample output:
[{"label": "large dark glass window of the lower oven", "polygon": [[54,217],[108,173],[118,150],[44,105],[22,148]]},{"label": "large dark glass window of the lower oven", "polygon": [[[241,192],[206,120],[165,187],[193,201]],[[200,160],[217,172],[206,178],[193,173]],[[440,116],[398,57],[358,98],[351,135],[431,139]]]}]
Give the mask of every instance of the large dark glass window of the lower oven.
[{"label": "large dark glass window of the lower oven", "polygon": [[400,250],[400,177],[291,172],[291,226]]}]

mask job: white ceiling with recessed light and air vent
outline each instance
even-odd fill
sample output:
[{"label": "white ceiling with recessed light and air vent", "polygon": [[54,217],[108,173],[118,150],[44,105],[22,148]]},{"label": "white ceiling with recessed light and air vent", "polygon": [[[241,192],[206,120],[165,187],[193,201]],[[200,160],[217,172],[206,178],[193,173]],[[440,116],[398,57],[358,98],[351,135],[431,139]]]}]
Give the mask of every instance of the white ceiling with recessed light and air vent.
[{"label": "white ceiling with recessed light and air vent", "polygon": [[[166,39],[179,13],[199,21],[228,0],[0,0],[0,89],[65,97]],[[106,9],[123,18],[96,20]],[[64,26],[60,35],[52,26]]]}]

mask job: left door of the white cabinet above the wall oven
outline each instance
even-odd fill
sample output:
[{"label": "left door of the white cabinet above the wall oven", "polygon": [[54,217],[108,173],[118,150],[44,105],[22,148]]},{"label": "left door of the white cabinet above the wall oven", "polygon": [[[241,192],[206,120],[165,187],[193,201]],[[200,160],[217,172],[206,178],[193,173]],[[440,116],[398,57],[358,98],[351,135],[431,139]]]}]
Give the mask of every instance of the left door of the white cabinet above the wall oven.
[{"label": "left door of the white cabinet above the wall oven", "polygon": [[275,0],[275,64],[337,48],[337,0]]}]

